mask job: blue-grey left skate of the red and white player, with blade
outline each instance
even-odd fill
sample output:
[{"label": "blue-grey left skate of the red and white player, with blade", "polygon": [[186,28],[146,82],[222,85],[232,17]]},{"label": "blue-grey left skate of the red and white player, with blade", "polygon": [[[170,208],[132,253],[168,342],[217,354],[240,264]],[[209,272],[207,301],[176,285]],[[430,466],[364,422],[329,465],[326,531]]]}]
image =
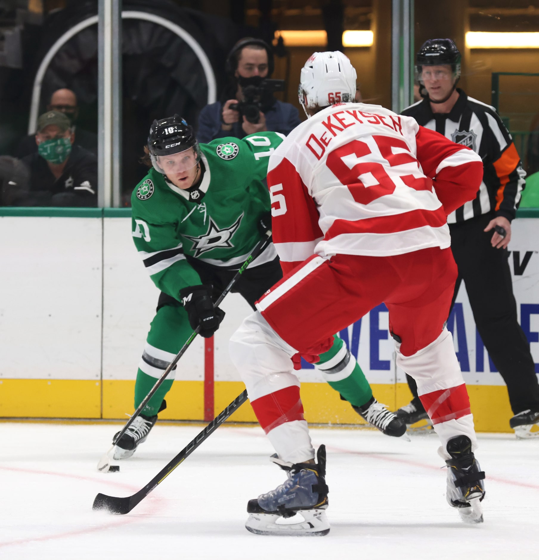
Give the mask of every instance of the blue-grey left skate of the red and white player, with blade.
[{"label": "blue-grey left skate of the red and white player, with blade", "polygon": [[[326,447],[318,447],[317,464],[271,460],[288,474],[288,480],[267,494],[249,500],[245,524],[257,535],[322,536],[330,530],[326,517]],[[280,520],[280,523],[277,521]]]}]

